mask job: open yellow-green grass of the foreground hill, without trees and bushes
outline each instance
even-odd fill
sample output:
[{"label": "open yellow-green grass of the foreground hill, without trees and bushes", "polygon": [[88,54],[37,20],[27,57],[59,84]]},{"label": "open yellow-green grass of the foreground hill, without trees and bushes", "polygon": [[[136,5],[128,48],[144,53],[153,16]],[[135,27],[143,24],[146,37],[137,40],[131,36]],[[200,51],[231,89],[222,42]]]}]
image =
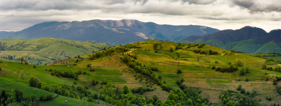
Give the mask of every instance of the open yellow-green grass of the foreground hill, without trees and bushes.
[{"label": "open yellow-green grass of the foreground hill, without trees and bushes", "polygon": [[[163,48],[161,50],[153,49],[154,43],[161,44]],[[63,44],[60,43],[60,45]],[[267,64],[267,67],[277,67],[280,66],[280,64],[277,64],[276,62],[266,62],[266,59],[253,57],[250,55],[231,53],[225,49],[210,45],[204,45],[201,48],[198,46],[188,48],[190,44],[180,44],[182,49],[175,50],[175,46],[178,45],[178,43],[167,41],[160,42],[150,40],[135,42],[122,45],[123,47],[138,47],[131,48],[127,52],[110,54],[95,60],[85,60],[83,62],[73,64],[36,65],[36,68],[30,64],[20,64],[18,62],[2,60],[0,63],[0,67],[2,68],[0,71],[0,90],[11,92],[10,88],[15,87],[23,90],[26,96],[34,94],[37,99],[39,94],[52,93],[29,87],[27,84],[29,77],[34,76],[39,82],[42,82],[43,87],[60,85],[72,90],[72,86],[88,86],[90,92],[99,93],[101,82],[104,79],[107,79],[111,80],[113,84],[120,88],[122,88],[124,85],[127,85],[129,89],[137,87],[149,87],[154,89],[154,91],[144,92],[143,95],[146,98],[152,97],[153,95],[158,95],[158,98],[161,99],[162,102],[165,102],[169,92],[162,90],[162,88],[159,85],[154,84],[153,80],[151,80],[149,77],[137,73],[134,71],[134,69],[128,67],[127,64],[120,59],[120,57],[124,57],[124,55],[126,55],[130,59],[133,59],[131,56],[135,56],[136,58],[134,60],[142,65],[157,68],[158,71],[153,71],[153,74],[157,77],[161,76],[161,83],[165,83],[174,89],[179,88],[175,82],[183,78],[183,84],[185,84],[186,87],[194,87],[198,89],[201,92],[200,96],[202,98],[207,97],[209,102],[221,102],[222,100],[218,95],[222,92],[226,92],[228,89],[239,92],[236,90],[238,85],[242,85],[242,88],[244,88],[246,91],[255,91],[256,95],[254,98],[257,100],[260,99],[259,103],[261,104],[270,105],[271,103],[280,102],[281,96],[277,91],[275,91],[275,85],[273,85],[272,81],[276,76],[280,77],[281,73],[261,69],[262,64]],[[116,47],[112,48],[115,49]],[[170,51],[170,48],[173,49],[172,52]],[[207,52],[207,54],[195,53],[193,52],[194,49]],[[209,50],[215,51],[217,54],[210,55]],[[60,56],[56,55],[59,52],[54,54],[44,54],[44,51],[50,52],[51,49],[41,49],[40,52],[34,52],[32,55],[48,55],[50,57],[53,55],[53,57],[57,56],[56,58],[59,58]],[[77,54],[73,52],[73,55]],[[86,59],[90,56],[91,55],[84,55],[82,57]],[[241,70],[243,67],[238,67],[238,70],[234,72],[220,72],[212,69],[213,66],[216,68],[229,67],[229,62],[230,64],[234,64],[238,60],[241,60],[241,62],[244,63],[244,67],[249,67],[248,73],[245,73],[244,75],[239,74],[239,70]],[[90,67],[93,68],[94,71],[90,71]],[[49,71],[50,69],[60,72],[81,71],[82,74],[78,75],[77,84],[74,85],[74,81],[76,80],[73,78],[65,78],[61,76],[57,77],[55,75],[51,75],[51,71]],[[178,70],[181,72],[178,72]],[[267,77],[269,79],[268,81],[266,81]],[[91,84],[92,78],[95,78],[98,81],[97,85]],[[281,83],[277,82],[277,85],[281,85]],[[79,94],[78,90],[73,90],[73,92]],[[54,93],[52,94],[55,96]],[[139,95],[139,93],[135,93],[134,95]],[[266,96],[272,97],[272,100],[266,100]],[[66,105],[63,103],[64,100],[68,100],[69,104],[71,105],[80,105],[80,103],[82,103],[82,100],[61,95],[51,101],[38,100],[37,102],[43,106],[58,106]],[[94,105],[102,104],[102,101],[99,100],[99,103]]]}]

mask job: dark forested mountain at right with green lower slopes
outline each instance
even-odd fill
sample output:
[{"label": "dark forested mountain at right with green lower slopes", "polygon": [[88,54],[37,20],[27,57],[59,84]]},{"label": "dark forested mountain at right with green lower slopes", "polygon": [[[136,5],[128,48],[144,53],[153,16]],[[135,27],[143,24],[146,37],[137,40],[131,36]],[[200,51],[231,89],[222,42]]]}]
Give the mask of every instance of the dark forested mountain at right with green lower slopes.
[{"label": "dark forested mountain at right with green lower slopes", "polygon": [[203,36],[190,36],[178,42],[205,43],[247,53],[281,53],[281,30],[269,33],[257,27],[246,26],[236,30],[222,30]]}]

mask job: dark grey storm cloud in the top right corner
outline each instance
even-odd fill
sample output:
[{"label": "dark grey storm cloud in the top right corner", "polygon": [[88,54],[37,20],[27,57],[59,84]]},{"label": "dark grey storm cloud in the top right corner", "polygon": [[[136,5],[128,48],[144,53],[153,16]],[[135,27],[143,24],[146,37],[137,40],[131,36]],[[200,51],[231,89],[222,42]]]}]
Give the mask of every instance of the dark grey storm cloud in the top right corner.
[{"label": "dark grey storm cloud in the top right corner", "polygon": [[272,11],[281,12],[280,0],[233,0],[232,2],[234,5],[248,9],[250,13]]}]

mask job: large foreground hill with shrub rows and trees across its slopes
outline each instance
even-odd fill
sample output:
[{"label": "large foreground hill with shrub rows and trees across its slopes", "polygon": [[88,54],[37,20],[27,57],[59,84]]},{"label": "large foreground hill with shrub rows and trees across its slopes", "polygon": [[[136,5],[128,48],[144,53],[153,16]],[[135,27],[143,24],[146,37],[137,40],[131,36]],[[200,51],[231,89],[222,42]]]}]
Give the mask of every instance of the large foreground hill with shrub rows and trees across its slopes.
[{"label": "large foreground hill with shrub rows and trees across its slopes", "polygon": [[[153,48],[155,43],[158,47],[154,47],[158,50]],[[209,54],[210,50],[212,54]],[[37,99],[38,92],[44,95],[56,92],[61,97],[50,101],[36,100],[39,105],[63,105],[59,102],[62,100],[76,105],[82,102],[73,99],[77,96],[84,97],[84,100],[97,100],[93,105],[105,105],[103,100],[113,105],[145,105],[151,101],[151,105],[178,103],[179,106],[226,105],[226,102],[277,105],[281,99],[272,82],[281,76],[281,70],[262,70],[266,59],[231,53],[210,45],[150,40],[111,47],[68,60],[34,67],[2,61],[0,80],[4,83],[1,83],[0,90],[11,92],[10,88],[14,86],[21,88],[24,95],[34,94]],[[236,70],[235,63],[240,60],[244,67],[237,67]],[[266,67],[278,68],[280,64]],[[243,75],[240,74],[242,69],[247,70]],[[26,84],[30,76],[42,82],[43,90],[34,88],[35,92],[30,91],[32,87]],[[97,84],[93,84],[92,78],[98,81]],[[107,80],[111,80],[114,86]],[[244,92],[236,90],[239,85],[242,85]],[[281,84],[277,81],[276,85]],[[106,93],[108,91],[109,94]]]}]

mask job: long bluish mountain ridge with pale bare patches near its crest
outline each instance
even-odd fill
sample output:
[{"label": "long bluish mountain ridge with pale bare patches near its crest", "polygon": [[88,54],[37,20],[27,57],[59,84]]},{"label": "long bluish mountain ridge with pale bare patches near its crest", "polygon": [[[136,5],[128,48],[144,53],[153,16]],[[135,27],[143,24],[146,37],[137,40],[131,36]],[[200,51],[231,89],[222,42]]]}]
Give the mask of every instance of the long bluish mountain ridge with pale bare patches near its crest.
[{"label": "long bluish mountain ridge with pale bare patches near its crest", "polygon": [[93,41],[111,45],[128,44],[153,38],[157,40],[180,40],[191,35],[205,35],[220,30],[198,25],[159,25],[153,22],[138,20],[89,20],[72,22],[43,22],[19,32],[6,35],[4,38],[37,39],[52,37]]}]

